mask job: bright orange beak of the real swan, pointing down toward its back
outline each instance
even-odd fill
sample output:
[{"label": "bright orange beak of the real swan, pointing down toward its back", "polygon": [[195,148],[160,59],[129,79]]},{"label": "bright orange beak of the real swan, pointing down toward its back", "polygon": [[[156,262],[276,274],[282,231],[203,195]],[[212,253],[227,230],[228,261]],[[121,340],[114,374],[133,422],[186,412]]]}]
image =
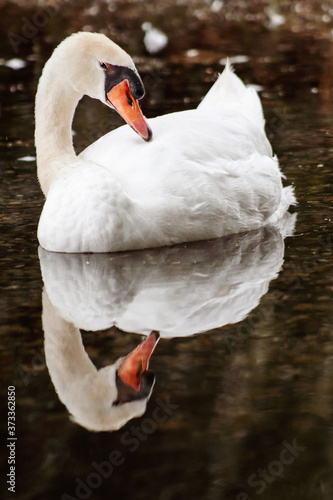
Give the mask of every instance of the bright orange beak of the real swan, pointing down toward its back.
[{"label": "bright orange beak of the real swan, pointing down toward its back", "polygon": [[142,114],[138,101],[131,94],[127,79],[114,85],[106,94],[106,100],[142,139],[151,140],[152,130]]}]

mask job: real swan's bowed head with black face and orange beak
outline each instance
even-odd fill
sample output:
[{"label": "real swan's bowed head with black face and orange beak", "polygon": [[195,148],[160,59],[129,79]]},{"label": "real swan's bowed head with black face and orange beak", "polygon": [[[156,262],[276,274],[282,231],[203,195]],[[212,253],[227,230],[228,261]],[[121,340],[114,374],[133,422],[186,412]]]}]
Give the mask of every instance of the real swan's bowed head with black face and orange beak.
[{"label": "real swan's bowed head with black face and orange beak", "polygon": [[79,32],[66,38],[54,51],[62,78],[78,94],[99,99],[115,109],[145,141],[152,131],[138,101],[145,89],[132,58],[100,33]]}]

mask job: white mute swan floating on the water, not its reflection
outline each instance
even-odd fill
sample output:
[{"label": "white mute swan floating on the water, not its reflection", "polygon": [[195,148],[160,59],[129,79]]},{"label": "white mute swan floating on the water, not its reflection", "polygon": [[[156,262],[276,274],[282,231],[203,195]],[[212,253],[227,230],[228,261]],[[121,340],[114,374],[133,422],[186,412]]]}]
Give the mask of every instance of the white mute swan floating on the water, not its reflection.
[{"label": "white mute swan floating on the water, not its reflection", "polygon": [[[120,127],[76,156],[71,123],[84,94],[138,135]],[[229,65],[195,110],[148,124],[143,95],[132,59],[104,35],[76,33],[55,49],[35,107],[44,249],[114,252],[216,238],[275,224],[295,203],[259,98]]]}]

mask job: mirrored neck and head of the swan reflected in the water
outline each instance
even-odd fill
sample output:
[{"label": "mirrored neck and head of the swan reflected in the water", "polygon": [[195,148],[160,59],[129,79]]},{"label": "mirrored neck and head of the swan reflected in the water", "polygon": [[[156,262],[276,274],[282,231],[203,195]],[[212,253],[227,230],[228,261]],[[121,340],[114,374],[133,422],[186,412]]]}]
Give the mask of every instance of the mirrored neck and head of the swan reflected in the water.
[{"label": "mirrored neck and head of the swan reflected in the water", "polygon": [[46,364],[60,400],[75,422],[94,431],[117,430],[141,416],[155,377],[147,371],[159,334],[151,334],[128,356],[97,370],[81,333],[43,291]]}]

